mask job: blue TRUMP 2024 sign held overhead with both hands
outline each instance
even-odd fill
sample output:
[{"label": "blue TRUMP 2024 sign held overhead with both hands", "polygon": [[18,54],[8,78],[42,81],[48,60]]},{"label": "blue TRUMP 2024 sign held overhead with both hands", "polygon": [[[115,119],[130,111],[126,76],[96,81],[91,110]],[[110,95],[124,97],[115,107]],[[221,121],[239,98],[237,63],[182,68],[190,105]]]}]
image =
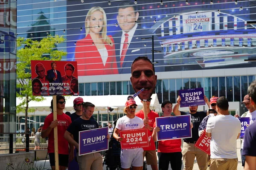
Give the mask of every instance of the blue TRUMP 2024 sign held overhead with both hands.
[{"label": "blue TRUMP 2024 sign held overhead with both hands", "polygon": [[204,88],[191,88],[180,90],[179,96],[181,98],[180,107],[205,105],[204,102]]}]

